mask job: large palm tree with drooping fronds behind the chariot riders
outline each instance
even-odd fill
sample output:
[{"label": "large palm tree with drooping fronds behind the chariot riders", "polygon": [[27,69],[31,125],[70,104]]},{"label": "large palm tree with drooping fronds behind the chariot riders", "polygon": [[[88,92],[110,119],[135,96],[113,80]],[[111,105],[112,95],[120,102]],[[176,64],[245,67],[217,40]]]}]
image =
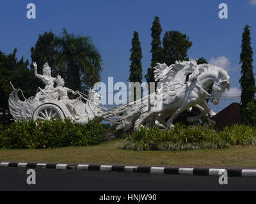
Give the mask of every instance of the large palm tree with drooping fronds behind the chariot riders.
[{"label": "large palm tree with drooping fronds behind the chariot riders", "polygon": [[100,81],[102,59],[90,36],[63,34],[56,38],[58,44],[58,65],[67,70],[67,86],[86,92]]}]

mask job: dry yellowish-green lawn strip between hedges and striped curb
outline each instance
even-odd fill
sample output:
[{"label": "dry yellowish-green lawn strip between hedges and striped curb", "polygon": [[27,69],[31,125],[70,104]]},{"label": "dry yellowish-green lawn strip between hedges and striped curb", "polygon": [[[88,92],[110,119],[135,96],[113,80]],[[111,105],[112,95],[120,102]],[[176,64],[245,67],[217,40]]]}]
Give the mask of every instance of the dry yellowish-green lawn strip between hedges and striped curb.
[{"label": "dry yellowish-green lawn strip between hedges and striped curb", "polygon": [[119,149],[121,140],[89,147],[58,149],[0,149],[0,161],[48,163],[116,163],[186,166],[240,166],[256,168],[256,146],[231,149],[143,151]]}]

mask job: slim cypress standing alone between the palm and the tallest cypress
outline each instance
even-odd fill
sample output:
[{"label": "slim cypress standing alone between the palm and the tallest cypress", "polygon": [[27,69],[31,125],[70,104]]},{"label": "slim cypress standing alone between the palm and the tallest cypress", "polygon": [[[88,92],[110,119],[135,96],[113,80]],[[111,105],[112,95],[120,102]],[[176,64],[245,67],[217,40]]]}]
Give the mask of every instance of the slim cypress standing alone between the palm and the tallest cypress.
[{"label": "slim cypress standing alone between the palm and the tallest cypress", "polygon": [[[133,38],[132,38],[132,48],[131,52],[131,65],[130,65],[130,77],[129,82],[139,82],[141,84],[142,80],[142,65],[141,65],[141,46],[140,46],[140,39],[139,34],[137,31],[134,31]],[[135,91],[134,91],[134,99],[135,99]]]}]

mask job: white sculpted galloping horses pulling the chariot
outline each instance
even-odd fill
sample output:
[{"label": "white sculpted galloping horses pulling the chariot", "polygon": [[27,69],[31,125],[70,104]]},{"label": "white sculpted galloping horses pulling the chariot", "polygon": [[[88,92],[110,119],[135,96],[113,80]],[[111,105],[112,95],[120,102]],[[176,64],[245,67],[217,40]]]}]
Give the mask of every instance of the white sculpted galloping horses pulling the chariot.
[{"label": "white sculpted galloping horses pulling the chariot", "polygon": [[217,105],[221,94],[230,87],[227,71],[211,64],[176,61],[171,66],[157,63],[155,69],[155,78],[162,83],[161,87],[154,94],[142,98],[145,103],[127,106],[116,129],[137,130],[140,126],[150,128],[155,125],[170,128],[177,115],[184,110],[190,111],[193,106],[202,113],[188,117],[188,121],[199,120],[211,112],[206,99],[210,98]]}]

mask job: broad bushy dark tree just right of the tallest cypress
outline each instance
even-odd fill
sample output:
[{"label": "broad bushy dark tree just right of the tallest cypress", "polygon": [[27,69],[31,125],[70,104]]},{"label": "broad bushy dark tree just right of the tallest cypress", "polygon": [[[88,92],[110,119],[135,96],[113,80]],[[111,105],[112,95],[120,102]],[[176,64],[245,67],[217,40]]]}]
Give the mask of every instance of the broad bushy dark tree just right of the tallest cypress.
[{"label": "broad bushy dark tree just right of the tallest cypress", "polygon": [[168,66],[175,61],[188,61],[188,50],[192,46],[189,37],[179,31],[166,31],[163,38],[163,62]]}]

